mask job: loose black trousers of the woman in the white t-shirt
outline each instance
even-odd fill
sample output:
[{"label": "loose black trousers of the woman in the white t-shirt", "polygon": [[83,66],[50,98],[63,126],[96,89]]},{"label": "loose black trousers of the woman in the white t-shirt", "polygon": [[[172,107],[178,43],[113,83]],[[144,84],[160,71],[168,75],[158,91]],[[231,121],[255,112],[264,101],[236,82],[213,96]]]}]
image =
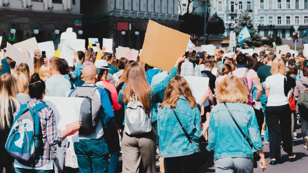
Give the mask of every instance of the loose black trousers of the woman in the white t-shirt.
[{"label": "loose black trousers of the woman in the white t-shirt", "polygon": [[283,151],[288,153],[288,156],[292,156],[292,120],[289,104],[266,107],[265,115],[270,139],[270,158],[280,158],[281,141],[283,141]]}]

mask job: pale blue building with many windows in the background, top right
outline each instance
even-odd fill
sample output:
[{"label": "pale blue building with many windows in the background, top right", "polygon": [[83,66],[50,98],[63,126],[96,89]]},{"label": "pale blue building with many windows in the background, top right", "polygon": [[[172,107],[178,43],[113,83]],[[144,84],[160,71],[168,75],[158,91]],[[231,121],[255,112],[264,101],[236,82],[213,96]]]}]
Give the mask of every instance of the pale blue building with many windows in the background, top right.
[{"label": "pale blue building with many windows in the background, top right", "polygon": [[270,34],[292,37],[293,26],[299,26],[299,37],[302,37],[308,29],[308,0],[207,0],[206,5],[204,0],[196,0],[194,3],[199,6],[194,11],[196,14],[204,15],[205,9],[209,16],[217,12],[225,22],[230,16],[230,21],[234,20],[231,27],[237,26],[238,18],[246,10],[253,26],[265,38]]}]

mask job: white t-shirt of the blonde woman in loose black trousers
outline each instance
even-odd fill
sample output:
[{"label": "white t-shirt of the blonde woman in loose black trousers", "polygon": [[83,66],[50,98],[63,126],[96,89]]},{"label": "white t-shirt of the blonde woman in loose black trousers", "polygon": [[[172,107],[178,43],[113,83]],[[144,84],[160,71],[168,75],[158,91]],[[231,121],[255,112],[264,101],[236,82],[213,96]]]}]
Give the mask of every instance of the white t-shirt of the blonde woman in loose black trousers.
[{"label": "white t-shirt of the blonde woman in loose black trousers", "polygon": [[270,89],[270,95],[266,106],[282,106],[289,104],[289,99],[284,92],[285,76],[282,74],[273,74],[265,79],[265,88]]}]

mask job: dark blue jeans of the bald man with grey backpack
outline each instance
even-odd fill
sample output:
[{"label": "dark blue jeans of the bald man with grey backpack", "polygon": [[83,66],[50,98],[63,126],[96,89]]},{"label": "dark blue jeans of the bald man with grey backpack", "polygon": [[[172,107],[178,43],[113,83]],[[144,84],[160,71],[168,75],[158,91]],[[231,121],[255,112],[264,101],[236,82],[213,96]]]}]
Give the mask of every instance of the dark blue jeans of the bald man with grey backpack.
[{"label": "dark blue jeans of the bald man with grey backpack", "polygon": [[74,142],[79,172],[108,172],[108,147],[105,139],[79,139]]}]

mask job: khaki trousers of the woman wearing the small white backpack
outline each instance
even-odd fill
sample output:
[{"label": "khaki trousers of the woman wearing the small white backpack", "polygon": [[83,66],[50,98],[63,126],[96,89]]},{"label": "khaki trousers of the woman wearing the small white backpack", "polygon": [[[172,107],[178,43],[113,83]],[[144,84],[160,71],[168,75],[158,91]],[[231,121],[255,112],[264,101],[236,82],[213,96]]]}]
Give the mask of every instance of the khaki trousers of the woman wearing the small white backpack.
[{"label": "khaki trousers of the woman wearing the small white backpack", "polygon": [[153,130],[139,135],[128,135],[124,131],[121,143],[123,173],[156,172],[156,142]]}]

